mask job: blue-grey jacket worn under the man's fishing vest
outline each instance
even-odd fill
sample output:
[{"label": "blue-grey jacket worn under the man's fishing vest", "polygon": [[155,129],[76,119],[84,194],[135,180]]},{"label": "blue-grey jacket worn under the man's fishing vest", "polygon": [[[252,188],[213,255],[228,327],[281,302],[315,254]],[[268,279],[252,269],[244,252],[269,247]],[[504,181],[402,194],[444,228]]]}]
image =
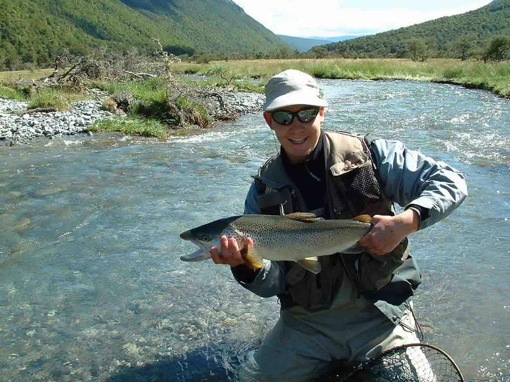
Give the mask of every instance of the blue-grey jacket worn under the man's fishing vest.
[{"label": "blue-grey jacket worn under the man's fishing vest", "polygon": [[[414,204],[429,211],[426,219],[420,221],[419,229],[446,217],[467,196],[466,183],[460,172],[444,162],[407,150],[401,142],[377,139],[371,145],[371,154],[382,192],[387,198],[401,206]],[[246,197],[244,213],[260,213],[255,184],[251,185]],[[264,260],[263,268],[252,282],[246,284],[236,279],[253,293],[270,297],[285,292],[287,269],[282,263]],[[398,321],[404,309],[387,304],[385,300],[388,298],[373,298],[374,304],[383,313]]]}]

